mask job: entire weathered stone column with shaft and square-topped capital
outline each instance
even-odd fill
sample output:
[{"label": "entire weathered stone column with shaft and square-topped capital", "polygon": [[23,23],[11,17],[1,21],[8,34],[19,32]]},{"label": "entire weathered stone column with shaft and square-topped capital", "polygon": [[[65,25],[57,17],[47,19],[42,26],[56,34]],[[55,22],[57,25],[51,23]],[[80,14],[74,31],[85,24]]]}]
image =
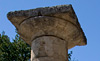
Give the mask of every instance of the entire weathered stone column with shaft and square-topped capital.
[{"label": "entire weathered stone column with shaft and square-topped capital", "polygon": [[68,49],[87,44],[72,5],[9,12],[7,17],[31,46],[31,61],[68,61]]}]

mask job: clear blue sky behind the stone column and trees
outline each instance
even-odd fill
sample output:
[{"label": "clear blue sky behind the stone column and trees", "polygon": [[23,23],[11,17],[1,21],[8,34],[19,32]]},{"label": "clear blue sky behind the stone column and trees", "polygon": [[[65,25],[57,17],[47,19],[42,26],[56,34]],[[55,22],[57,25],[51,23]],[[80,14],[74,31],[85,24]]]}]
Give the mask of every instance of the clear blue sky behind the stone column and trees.
[{"label": "clear blue sky behind the stone column and trees", "polygon": [[64,4],[72,4],[87,37],[86,46],[70,49],[73,51],[72,58],[100,61],[100,0],[0,0],[0,33],[5,31],[11,40],[16,35],[15,27],[6,16],[10,11]]}]

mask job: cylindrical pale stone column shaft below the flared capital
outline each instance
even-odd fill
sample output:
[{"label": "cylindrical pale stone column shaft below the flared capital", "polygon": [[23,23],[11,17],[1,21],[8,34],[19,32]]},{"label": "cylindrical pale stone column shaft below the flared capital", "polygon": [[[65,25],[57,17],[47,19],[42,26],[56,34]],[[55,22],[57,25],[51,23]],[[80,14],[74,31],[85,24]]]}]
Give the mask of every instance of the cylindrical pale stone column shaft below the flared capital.
[{"label": "cylindrical pale stone column shaft below the flared capital", "polygon": [[35,39],[31,46],[32,61],[68,61],[67,43],[53,36]]}]

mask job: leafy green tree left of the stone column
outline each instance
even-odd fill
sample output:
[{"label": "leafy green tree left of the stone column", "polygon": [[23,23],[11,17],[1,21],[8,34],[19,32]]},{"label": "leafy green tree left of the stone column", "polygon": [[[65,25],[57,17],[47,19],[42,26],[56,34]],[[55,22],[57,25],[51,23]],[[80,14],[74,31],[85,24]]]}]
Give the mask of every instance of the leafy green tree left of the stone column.
[{"label": "leafy green tree left of the stone column", "polygon": [[0,61],[27,61],[30,59],[30,46],[17,34],[13,42],[3,32],[0,34]]}]

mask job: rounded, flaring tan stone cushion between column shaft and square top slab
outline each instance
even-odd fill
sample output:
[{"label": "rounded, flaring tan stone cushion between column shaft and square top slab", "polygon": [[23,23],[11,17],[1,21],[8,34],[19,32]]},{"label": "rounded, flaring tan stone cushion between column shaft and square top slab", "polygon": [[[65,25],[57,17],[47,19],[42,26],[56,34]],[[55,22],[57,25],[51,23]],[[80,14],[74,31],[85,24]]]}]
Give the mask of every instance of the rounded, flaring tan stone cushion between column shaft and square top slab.
[{"label": "rounded, flaring tan stone cushion between column shaft and square top slab", "polygon": [[[24,35],[22,37],[25,40],[33,40],[43,35],[62,38],[69,43],[68,48],[72,48],[78,43],[80,44],[80,39],[82,39],[80,30],[69,21],[47,16],[32,17],[25,20],[21,23],[18,31],[21,36]],[[81,36],[79,40],[76,40],[79,36]],[[31,45],[30,41],[26,42]]]}]

